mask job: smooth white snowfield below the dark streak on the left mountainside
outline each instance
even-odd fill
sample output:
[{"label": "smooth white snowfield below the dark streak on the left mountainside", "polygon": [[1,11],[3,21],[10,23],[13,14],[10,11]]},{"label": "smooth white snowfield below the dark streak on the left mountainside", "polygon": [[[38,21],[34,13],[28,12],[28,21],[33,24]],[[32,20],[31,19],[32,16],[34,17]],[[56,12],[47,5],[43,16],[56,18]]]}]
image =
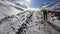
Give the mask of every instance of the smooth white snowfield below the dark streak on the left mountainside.
[{"label": "smooth white snowfield below the dark streak on the left mountainside", "polygon": [[20,11],[10,6],[6,2],[0,2],[0,18],[11,16],[11,15],[16,15],[19,12]]}]

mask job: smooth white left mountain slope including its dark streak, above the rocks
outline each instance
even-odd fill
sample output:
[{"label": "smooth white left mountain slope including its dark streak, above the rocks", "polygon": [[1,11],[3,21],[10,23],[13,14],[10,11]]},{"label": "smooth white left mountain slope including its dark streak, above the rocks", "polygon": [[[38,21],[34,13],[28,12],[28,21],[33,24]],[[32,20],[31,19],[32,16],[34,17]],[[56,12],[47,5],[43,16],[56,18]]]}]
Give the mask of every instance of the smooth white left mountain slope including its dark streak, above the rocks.
[{"label": "smooth white left mountain slope including its dark streak, above the rocks", "polygon": [[23,12],[25,8],[18,6],[16,3],[11,3],[6,0],[0,0],[0,18],[16,15]]}]

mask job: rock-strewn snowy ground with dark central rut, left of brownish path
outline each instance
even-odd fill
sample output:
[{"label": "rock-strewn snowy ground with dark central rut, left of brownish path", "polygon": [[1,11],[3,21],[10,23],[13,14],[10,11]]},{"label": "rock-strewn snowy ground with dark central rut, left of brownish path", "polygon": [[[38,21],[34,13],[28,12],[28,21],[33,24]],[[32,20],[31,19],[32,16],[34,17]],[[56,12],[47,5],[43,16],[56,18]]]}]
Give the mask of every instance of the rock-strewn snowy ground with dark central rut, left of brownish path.
[{"label": "rock-strewn snowy ground with dark central rut, left of brownish path", "polygon": [[40,23],[36,11],[22,12],[0,20],[0,34],[43,34],[43,24]]}]

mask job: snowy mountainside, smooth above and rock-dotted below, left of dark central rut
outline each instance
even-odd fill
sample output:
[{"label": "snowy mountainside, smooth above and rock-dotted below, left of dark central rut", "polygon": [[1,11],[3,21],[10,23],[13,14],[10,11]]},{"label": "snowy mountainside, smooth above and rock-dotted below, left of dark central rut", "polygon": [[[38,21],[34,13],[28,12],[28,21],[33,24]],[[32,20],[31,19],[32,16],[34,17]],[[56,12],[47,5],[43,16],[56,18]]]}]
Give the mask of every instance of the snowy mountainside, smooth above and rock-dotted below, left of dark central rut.
[{"label": "snowy mountainside, smooth above and rock-dotted below, left of dark central rut", "polygon": [[0,0],[0,34],[15,34],[27,14],[21,6]]}]

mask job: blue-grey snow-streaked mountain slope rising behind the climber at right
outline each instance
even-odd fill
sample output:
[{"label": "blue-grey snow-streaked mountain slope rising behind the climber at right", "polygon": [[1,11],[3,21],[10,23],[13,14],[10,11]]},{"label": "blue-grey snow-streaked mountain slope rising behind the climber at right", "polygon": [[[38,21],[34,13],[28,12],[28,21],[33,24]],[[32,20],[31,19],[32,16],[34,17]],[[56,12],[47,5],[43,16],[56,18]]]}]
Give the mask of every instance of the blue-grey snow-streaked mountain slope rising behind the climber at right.
[{"label": "blue-grey snow-streaked mountain slope rising behind the climber at right", "polygon": [[55,0],[54,2],[51,3],[45,3],[41,6],[41,8],[48,8],[49,10],[56,10],[60,11],[60,0]]}]

